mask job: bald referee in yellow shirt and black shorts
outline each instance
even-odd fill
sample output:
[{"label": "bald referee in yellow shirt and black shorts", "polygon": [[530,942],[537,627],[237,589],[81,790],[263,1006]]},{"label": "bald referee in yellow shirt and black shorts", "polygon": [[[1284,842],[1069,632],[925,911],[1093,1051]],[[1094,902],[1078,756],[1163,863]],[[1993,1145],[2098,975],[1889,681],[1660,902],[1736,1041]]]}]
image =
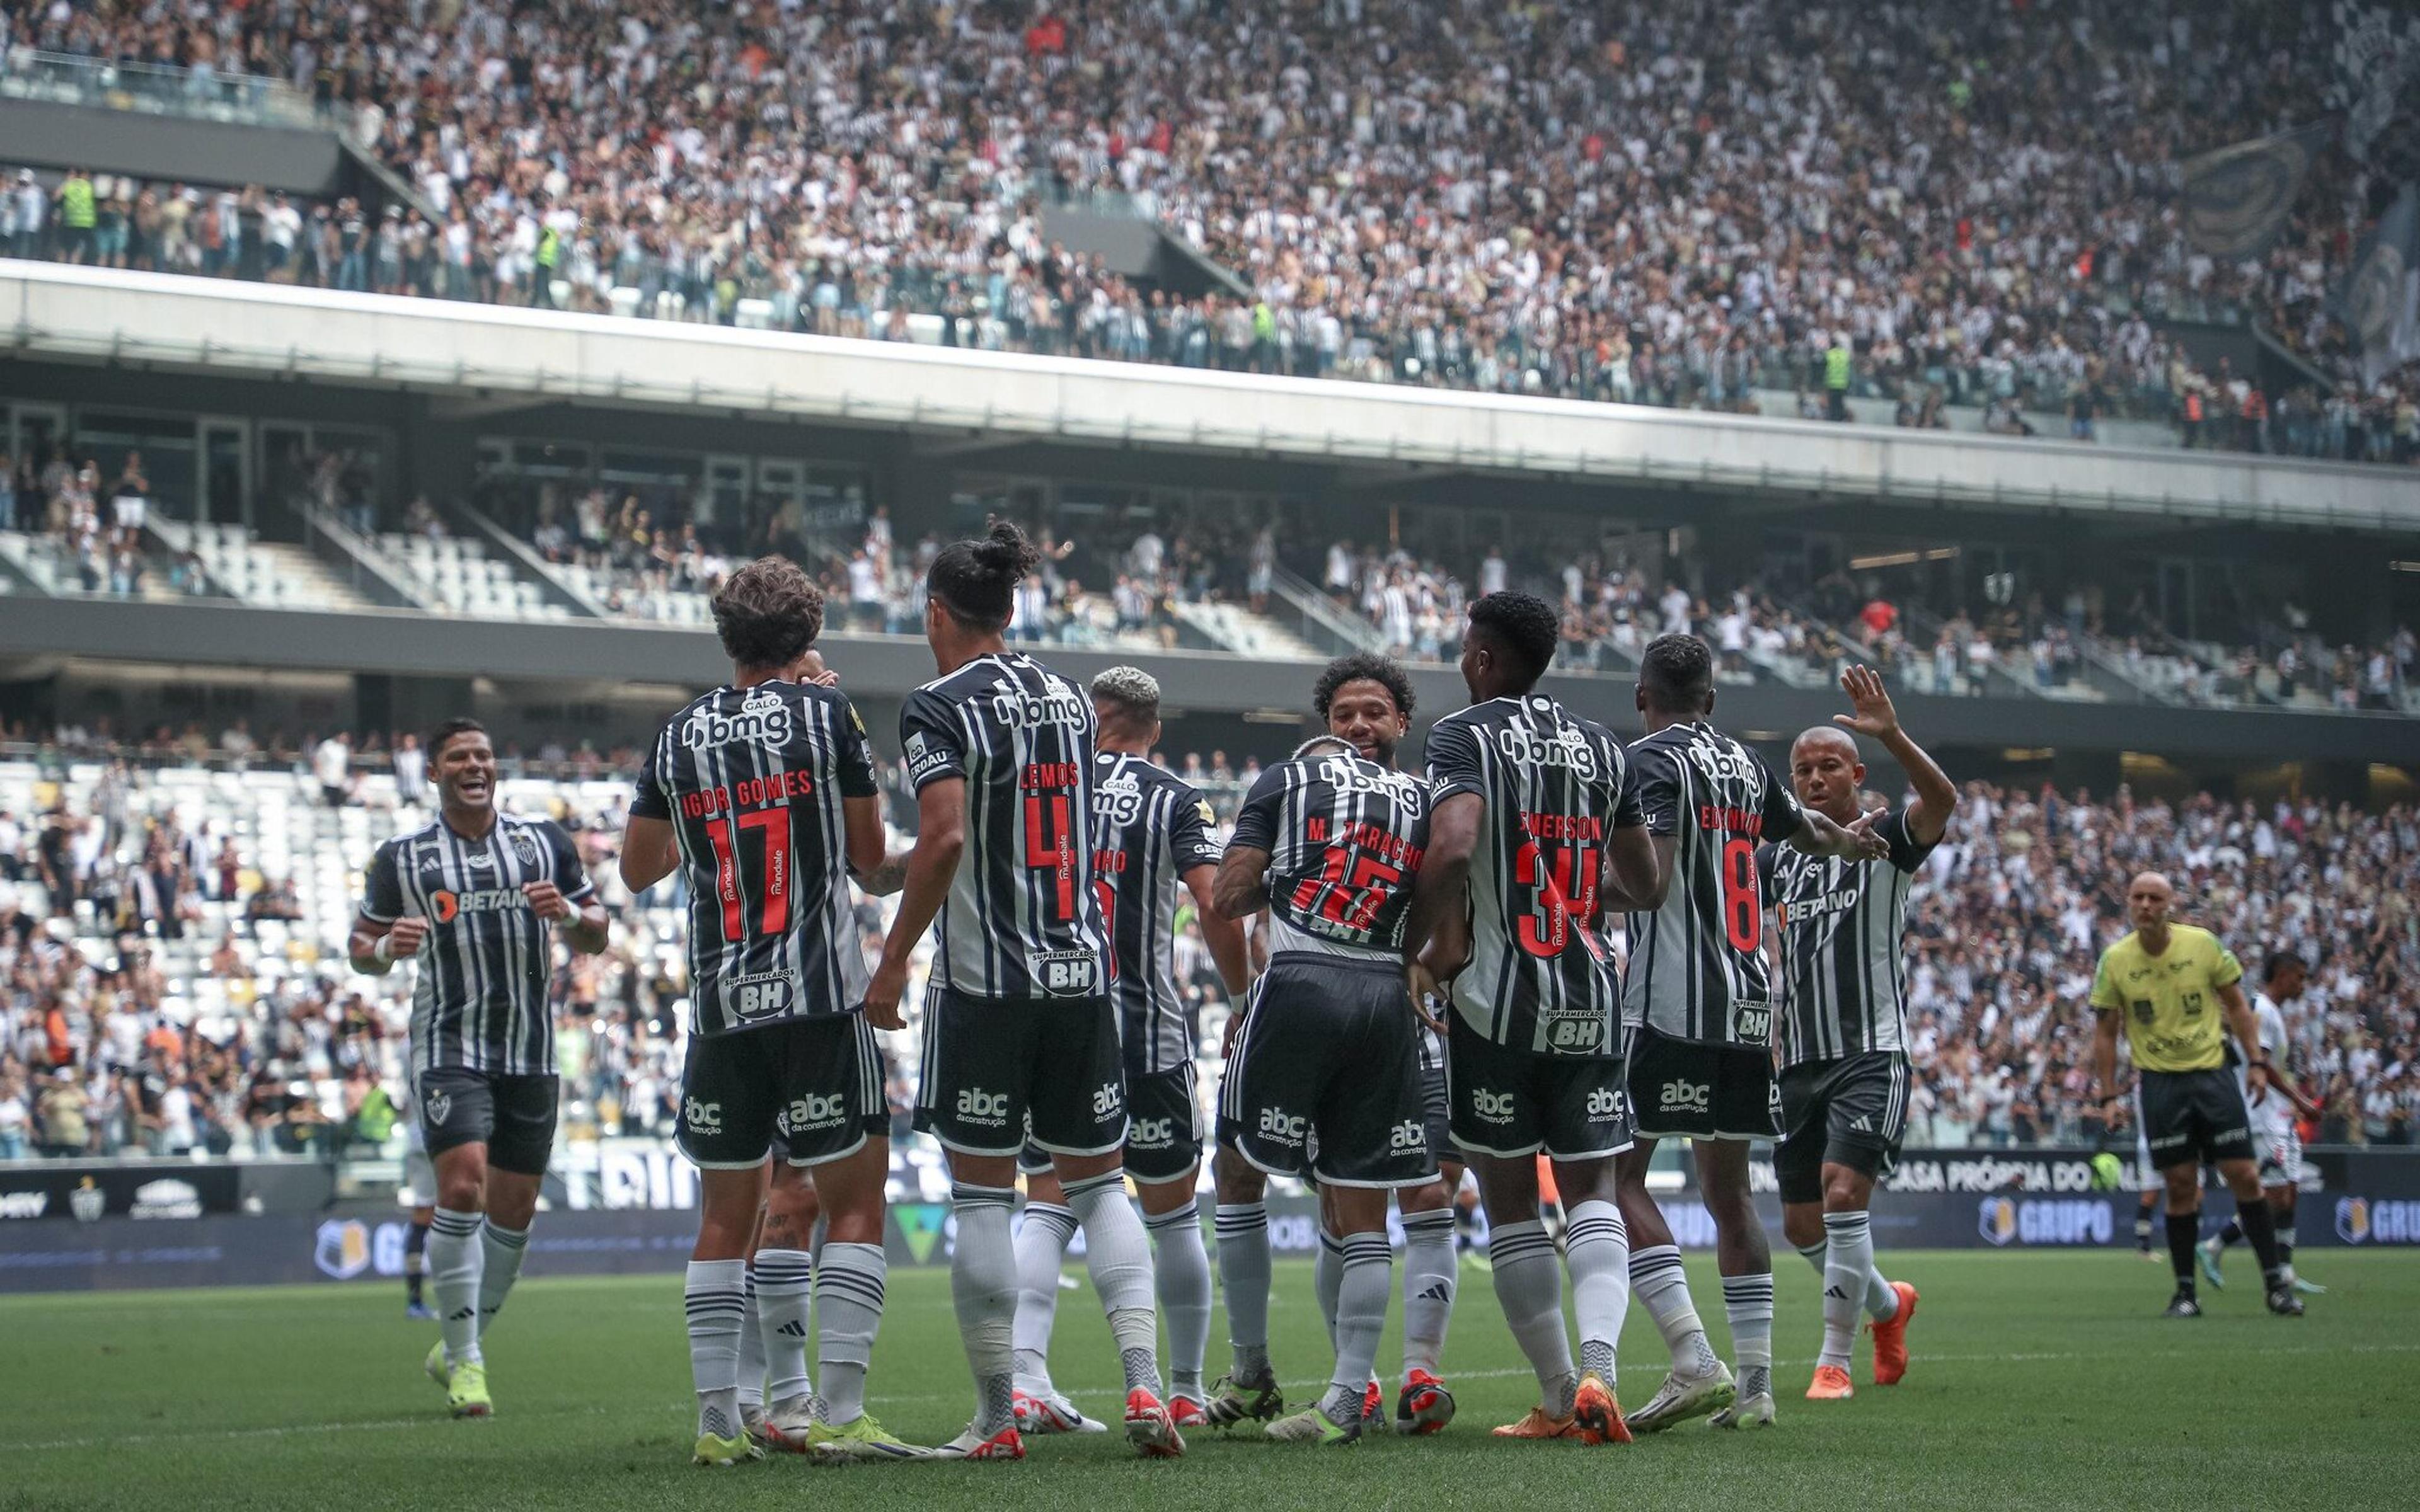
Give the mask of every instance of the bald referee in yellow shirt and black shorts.
[{"label": "bald referee in yellow shirt and black shorts", "polygon": [[[2243,965],[2219,936],[2173,924],[2176,888],[2144,871],[2125,888],[2132,934],[2101,953],[2093,973],[2093,1072],[2108,1098],[2110,1125],[2127,1118],[2118,1091],[2118,1035],[2134,1052],[2134,1108],[2151,1164],[2168,1183],[2168,1258],[2176,1265],[2171,1318],[2197,1318],[2193,1246],[2202,1236],[2202,1161],[2212,1161],[2236,1195],[2236,1222],[2260,1256],[2272,1314],[2301,1316],[2294,1270],[2277,1256],[2277,1224],[2260,1200],[2253,1166],[2251,1110],[2243,1084],[2226,1064],[2226,1031],[2243,1045],[2246,1064],[2268,1064],[2260,1028],[2243,999]],[[2224,1023],[2219,1016],[2224,1014]]]}]

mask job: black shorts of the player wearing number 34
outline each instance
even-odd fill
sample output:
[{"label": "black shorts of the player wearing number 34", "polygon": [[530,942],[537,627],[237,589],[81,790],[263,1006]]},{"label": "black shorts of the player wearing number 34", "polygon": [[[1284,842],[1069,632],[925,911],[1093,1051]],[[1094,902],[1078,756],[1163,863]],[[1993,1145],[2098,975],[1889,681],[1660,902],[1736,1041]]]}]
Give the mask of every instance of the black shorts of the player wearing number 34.
[{"label": "black shorts of the player wearing number 34", "polygon": [[1454,1144],[1471,1154],[1592,1161],[1631,1147],[1619,1057],[1539,1055],[1452,1018]]}]

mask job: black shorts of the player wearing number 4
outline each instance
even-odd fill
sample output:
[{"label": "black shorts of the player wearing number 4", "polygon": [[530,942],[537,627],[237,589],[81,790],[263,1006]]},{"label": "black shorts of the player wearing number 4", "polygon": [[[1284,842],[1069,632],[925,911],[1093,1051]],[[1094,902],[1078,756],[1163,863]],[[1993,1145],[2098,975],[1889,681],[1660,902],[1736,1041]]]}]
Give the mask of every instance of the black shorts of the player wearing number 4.
[{"label": "black shorts of the player wearing number 4", "polygon": [[924,997],[915,1127],[958,1154],[1108,1154],[1125,1144],[1125,1062],[1106,997]]}]

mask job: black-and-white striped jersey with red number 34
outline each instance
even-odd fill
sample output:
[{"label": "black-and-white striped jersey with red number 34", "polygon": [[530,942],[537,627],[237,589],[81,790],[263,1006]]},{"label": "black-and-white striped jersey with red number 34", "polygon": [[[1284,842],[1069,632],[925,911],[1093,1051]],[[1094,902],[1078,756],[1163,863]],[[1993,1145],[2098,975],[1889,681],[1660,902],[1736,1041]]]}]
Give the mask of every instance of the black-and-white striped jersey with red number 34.
[{"label": "black-and-white striped jersey with red number 34", "polygon": [[1597,936],[1597,878],[1607,835],[1646,823],[1626,777],[1612,731],[1537,692],[1447,714],[1428,733],[1430,806],[1481,801],[1454,1011],[1488,1040],[1614,1052],[1621,977]]}]

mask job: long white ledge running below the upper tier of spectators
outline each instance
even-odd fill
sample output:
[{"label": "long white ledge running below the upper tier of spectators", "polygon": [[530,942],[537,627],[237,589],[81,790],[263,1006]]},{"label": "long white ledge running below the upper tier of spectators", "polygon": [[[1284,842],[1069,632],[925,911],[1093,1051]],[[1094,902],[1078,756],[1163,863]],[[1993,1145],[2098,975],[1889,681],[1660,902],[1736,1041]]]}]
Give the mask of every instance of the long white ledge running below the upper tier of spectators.
[{"label": "long white ledge running below the upper tier of spectators", "polygon": [[453,404],[583,404],[905,431],[958,460],[1220,457],[1469,503],[1508,484],[1793,508],[2420,530],[2403,469],[1036,358],[0,264],[0,351],[394,387]]}]

